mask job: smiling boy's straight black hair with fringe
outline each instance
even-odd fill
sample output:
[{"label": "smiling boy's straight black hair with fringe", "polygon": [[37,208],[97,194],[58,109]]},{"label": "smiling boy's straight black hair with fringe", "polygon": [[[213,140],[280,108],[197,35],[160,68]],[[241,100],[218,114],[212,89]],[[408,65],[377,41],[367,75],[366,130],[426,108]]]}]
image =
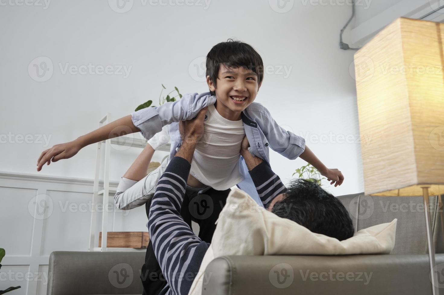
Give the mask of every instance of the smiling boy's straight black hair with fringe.
[{"label": "smiling boy's straight black hair with fringe", "polygon": [[[210,52],[206,55],[206,76],[210,76],[216,87],[220,65],[226,67],[244,67],[252,70],[258,74],[258,85],[261,84],[264,78],[264,63],[261,56],[254,50],[251,45],[228,39],[226,42],[221,42],[213,46]],[[214,91],[210,90],[211,95],[216,95]]]}]

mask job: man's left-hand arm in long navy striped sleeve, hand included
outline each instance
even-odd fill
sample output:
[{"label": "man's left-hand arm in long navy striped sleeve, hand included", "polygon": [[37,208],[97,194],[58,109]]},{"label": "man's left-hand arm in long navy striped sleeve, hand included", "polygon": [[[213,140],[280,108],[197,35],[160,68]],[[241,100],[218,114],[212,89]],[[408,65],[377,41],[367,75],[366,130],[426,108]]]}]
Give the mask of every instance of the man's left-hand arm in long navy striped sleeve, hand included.
[{"label": "man's left-hand arm in long navy striped sleeve, hand included", "polygon": [[159,180],[148,217],[156,259],[177,295],[188,294],[209,246],[180,215],[194,149],[203,134],[205,113],[206,109],[202,109],[196,119],[179,123],[182,145]]}]

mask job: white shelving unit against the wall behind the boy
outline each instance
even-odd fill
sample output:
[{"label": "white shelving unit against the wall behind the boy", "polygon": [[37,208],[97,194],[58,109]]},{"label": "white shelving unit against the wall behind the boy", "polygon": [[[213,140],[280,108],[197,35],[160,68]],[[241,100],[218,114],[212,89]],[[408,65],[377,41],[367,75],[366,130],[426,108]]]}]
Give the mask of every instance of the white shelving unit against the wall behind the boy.
[{"label": "white shelving unit against the wall behind the boy", "polygon": [[[103,118],[99,121],[99,128],[103,125],[111,122],[111,115],[107,113]],[[102,145],[105,145],[104,151],[104,160],[103,160],[103,168],[100,167],[100,159],[103,153]],[[128,136],[120,136],[119,138],[112,138],[111,140],[103,140],[97,143],[97,151],[95,154],[95,175],[94,175],[94,186],[93,186],[93,194],[92,194],[92,203],[97,204],[99,202],[99,196],[102,196],[102,204],[107,204],[109,194],[115,193],[116,188],[110,187],[109,185],[109,168],[110,168],[110,157],[111,157],[111,144],[117,144],[120,146],[129,146],[129,147],[139,147],[145,148],[147,145],[147,141],[139,138],[132,138]],[[163,147],[160,147],[158,151],[170,151],[170,144],[165,144]],[[100,170],[103,169],[103,189],[99,190],[99,175]],[[105,206],[103,205],[103,208]],[[146,251],[146,249],[136,249],[136,248],[108,248],[107,245],[107,233],[108,233],[108,210],[103,210],[102,213],[102,247],[95,247],[95,220],[97,218],[97,212],[95,211],[95,206],[92,206],[91,212],[91,225],[90,225],[90,233],[89,233],[89,251],[101,251],[101,252],[112,252],[112,251],[126,251],[126,252],[137,252],[137,251]],[[115,210],[113,213],[113,219],[115,220]],[[114,227],[114,223],[113,223]],[[114,230],[114,229],[113,229]]]}]

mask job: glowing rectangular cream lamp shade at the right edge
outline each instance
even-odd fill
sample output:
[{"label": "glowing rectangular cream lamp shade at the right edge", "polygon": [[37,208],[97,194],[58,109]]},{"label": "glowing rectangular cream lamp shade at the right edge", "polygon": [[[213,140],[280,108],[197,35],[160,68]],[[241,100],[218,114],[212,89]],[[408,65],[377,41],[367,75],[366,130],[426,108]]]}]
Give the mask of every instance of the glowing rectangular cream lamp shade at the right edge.
[{"label": "glowing rectangular cream lamp shade at the right edge", "polygon": [[444,194],[444,24],[398,18],[354,55],[365,194]]}]

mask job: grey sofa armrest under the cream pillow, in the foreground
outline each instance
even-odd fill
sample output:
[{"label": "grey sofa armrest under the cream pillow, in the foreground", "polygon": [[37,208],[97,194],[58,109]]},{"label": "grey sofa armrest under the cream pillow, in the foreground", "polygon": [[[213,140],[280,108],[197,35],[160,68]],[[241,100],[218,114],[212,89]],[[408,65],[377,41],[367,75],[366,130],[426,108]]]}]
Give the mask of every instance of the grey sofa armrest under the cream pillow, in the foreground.
[{"label": "grey sofa armrest under the cream pillow, in the foreground", "polygon": [[[439,273],[443,262],[444,254],[437,254]],[[424,254],[221,256],[205,270],[202,295],[431,295],[429,269]]]}]

